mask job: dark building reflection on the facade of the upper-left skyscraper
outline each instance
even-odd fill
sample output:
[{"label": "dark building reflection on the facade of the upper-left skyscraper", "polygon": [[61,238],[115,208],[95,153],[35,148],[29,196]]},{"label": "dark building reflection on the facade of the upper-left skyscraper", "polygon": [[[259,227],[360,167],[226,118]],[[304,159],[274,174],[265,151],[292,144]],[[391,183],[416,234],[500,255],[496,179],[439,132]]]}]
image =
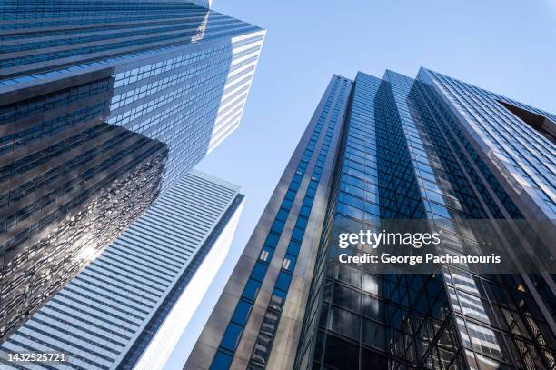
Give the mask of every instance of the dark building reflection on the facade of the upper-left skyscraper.
[{"label": "dark building reflection on the facade of the upper-left skyscraper", "polygon": [[110,245],[160,192],[167,145],[106,123],[111,75],[84,74],[2,101],[0,338]]}]

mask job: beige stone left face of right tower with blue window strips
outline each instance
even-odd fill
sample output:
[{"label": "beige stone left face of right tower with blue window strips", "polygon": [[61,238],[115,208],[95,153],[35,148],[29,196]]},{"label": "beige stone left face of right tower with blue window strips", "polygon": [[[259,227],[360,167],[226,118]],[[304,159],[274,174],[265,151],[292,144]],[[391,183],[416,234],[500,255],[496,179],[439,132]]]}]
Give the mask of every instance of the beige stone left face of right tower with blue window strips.
[{"label": "beige stone left face of right tower with blue window strips", "polygon": [[[246,248],[256,255],[242,256],[233,277],[241,274],[244,278],[226,285],[214,309],[226,311],[225,326],[222,322],[211,323],[218,317],[213,312],[185,368],[261,368],[276,361],[269,359],[276,330],[281,322],[292,322],[294,316],[293,307],[284,304],[288,296],[303,291],[299,283],[304,277],[293,271],[296,266],[308,267],[307,258],[312,252],[307,240],[314,241],[313,228],[322,224],[321,213],[314,209],[320,211],[327,192],[330,171],[325,168],[335,156],[351,85],[350,80],[333,77],[286,169],[288,175],[274,191],[279,203],[267,206],[264,221],[257,225]],[[263,286],[263,282],[268,285]],[[232,308],[228,297],[233,300]],[[260,311],[265,312],[263,317],[250,322],[253,312]],[[218,338],[212,335],[213,330],[221,333]],[[209,344],[210,355],[206,355],[204,346]],[[240,347],[250,348],[249,353],[239,353]],[[287,358],[280,356],[277,360],[287,366]]]}]

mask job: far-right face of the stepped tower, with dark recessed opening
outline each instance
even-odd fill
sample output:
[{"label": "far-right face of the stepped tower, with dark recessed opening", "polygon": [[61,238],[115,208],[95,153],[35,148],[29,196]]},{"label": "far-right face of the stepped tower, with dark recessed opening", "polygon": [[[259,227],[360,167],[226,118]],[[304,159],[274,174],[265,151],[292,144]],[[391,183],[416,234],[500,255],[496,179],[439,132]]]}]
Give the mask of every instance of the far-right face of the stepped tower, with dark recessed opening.
[{"label": "far-right face of the stepped tower, with dark recessed opening", "polygon": [[[556,218],[556,176],[554,175],[554,141],[530,125],[523,125],[508,105],[541,115],[556,125],[556,115],[524,105],[461,81],[422,70],[418,78],[430,82],[450,102],[452,110],[463,115],[465,122],[490,148],[501,171],[505,170],[531,198],[531,218]],[[503,104],[506,104],[504,106]],[[536,211],[536,212],[535,212]]]}]

